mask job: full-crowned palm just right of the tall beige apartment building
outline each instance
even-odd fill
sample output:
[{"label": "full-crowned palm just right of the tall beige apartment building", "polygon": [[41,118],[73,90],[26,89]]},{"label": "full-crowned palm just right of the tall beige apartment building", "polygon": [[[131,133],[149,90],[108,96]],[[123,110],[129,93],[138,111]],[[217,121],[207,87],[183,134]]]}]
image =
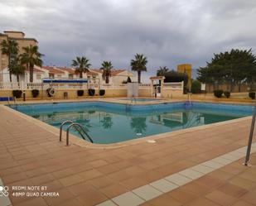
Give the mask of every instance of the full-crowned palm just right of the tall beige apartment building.
[{"label": "full-crowned palm just right of the tall beige apartment building", "polygon": [[43,56],[38,51],[38,46],[26,46],[23,47],[25,52],[21,55],[22,65],[27,65],[29,69],[29,81],[33,82],[33,74],[34,74],[34,65],[41,66],[43,61],[41,60],[41,56]]}]

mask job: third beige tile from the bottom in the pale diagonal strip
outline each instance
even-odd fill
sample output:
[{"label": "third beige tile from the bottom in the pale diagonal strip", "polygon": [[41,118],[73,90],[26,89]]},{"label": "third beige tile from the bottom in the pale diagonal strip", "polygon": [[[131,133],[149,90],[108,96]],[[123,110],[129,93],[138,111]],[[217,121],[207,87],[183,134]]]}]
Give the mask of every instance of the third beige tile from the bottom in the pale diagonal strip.
[{"label": "third beige tile from the bottom in the pale diagonal strip", "polygon": [[145,200],[153,199],[163,194],[161,191],[153,188],[149,184],[139,187],[137,189],[133,189],[133,193],[137,194],[139,197]]}]

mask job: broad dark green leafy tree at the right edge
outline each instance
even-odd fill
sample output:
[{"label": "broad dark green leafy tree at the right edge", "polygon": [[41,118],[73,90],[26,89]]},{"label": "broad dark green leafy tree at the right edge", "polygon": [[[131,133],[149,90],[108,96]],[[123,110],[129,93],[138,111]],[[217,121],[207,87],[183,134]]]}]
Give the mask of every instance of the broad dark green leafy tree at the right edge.
[{"label": "broad dark green leafy tree at the right edge", "polygon": [[198,79],[207,84],[215,86],[228,84],[232,92],[235,84],[254,84],[256,81],[256,56],[252,50],[230,50],[214,54],[205,67],[197,70]]}]

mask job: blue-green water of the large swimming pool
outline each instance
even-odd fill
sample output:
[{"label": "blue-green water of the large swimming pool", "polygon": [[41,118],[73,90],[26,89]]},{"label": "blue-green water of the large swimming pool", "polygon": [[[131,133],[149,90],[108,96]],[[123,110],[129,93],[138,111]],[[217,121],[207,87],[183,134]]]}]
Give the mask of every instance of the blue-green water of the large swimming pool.
[{"label": "blue-green water of the large swimming pool", "polygon": [[[89,130],[93,141],[101,144],[223,122],[253,113],[252,106],[218,103],[127,105],[80,102],[27,104],[13,108],[58,128],[66,120],[79,122]],[[72,133],[80,137],[77,132]]]}]

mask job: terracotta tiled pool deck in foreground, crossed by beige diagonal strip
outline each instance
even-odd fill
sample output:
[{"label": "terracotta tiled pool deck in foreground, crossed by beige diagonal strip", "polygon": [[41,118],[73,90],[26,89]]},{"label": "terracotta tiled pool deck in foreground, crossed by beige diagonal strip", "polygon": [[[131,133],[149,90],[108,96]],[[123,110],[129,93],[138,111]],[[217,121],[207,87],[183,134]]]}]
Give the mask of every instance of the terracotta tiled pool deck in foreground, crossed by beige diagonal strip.
[{"label": "terracotta tiled pool deck in foreground, crossed by beige diagonal strip", "polygon": [[[249,117],[108,149],[65,146],[2,106],[0,117],[0,178],[14,206],[256,205],[256,154],[245,167],[236,151],[247,144]],[[13,185],[46,185],[60,196],[13,197]]]}]

